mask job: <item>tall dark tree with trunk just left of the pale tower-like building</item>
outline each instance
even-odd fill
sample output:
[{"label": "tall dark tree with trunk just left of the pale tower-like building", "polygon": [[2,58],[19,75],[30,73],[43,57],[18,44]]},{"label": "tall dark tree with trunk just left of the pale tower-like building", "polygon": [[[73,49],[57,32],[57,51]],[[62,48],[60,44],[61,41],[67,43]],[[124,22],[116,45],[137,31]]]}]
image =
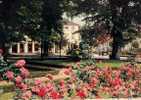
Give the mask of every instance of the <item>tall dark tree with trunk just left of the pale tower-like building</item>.
[{"label": "tall dark tree with trunk just left of the pale tower-like building", "polygon": [[41,39],[42,52],[48,56],[50,45],[49,37],[53,33],[59,33],[62,38],[62,15],[63,0],[43,0],[42,22],[41,22]]}]

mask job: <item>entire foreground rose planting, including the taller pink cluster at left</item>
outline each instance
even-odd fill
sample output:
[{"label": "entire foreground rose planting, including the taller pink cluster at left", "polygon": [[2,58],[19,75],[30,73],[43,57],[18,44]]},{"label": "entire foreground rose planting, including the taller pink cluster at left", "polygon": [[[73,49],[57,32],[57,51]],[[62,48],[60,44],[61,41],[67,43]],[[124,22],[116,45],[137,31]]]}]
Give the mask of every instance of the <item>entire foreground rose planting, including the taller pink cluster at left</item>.
[{"label": "entire foreground rose planting, including the taller pink cluster at left", "polygon": [[[12,81],[16,90],[15,98],[30,100],[41,99],[85,99],[104,97],[139,97],[141,96],[141,69],[131,64],[117,69],[110,67],[99,68],[95,65],[69,65],[62,69],[65,79],[54,80],[51,74],[47,81],[33,79],[31,84],[26,82],[29,71],[25,68],[25,61],[17,61],[13,65],[1,66],[0,74],[3,80]],[[1,64],[3,65],[3,64]]]}]

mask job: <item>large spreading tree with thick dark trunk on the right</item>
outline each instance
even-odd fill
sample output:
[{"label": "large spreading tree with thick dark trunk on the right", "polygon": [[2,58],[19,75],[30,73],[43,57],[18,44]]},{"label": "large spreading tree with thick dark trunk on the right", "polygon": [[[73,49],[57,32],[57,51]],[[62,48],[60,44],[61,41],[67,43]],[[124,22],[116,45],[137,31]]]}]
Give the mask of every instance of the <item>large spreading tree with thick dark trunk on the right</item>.
[{"label": "large spreading tree with thick dark trunk on the right", "polygon": [[139,0],[72,0],[69,3],[74,15],[85,16],[90,29],[94,29],[96,24],[105,26],[106,33],[113,38],[111,59],[117,59],[117,52],[123,46],[123,32],[141,23]]}]

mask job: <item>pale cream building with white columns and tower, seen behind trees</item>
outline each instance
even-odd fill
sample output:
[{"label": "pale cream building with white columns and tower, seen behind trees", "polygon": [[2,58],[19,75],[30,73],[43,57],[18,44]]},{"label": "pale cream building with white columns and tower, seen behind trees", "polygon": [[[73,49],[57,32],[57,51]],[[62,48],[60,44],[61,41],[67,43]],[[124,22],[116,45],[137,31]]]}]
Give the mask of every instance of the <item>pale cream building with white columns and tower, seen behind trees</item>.
[{"label": "pale cream building with white columns and tower, seen behind trees", "polygon": [[[63,21],[63,40],[65,41],[63,41],[61,48],[62,55],[66,55],[68,50],[72,49],[74,45],[79,46],[81,41],[79,29],[79,24],[68,20]],[[59,50],[59,44],[53,43],[49,52],[52,55],[58,55]],[[41,53],[41,43],[25,36],[25,41],[12,43],[9,53],[13,55],[37,55]]]}]

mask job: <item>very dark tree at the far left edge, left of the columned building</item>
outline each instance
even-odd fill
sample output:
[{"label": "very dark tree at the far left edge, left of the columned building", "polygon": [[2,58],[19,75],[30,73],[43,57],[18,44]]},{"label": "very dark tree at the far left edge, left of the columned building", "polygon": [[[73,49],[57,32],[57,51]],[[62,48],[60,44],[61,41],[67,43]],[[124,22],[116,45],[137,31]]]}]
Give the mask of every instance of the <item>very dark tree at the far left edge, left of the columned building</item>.
[{"label": "very dark tree at the far left edge, left of the columned building", "polygon": [[19,6],[19,0],[1,0],[0,2],[0,48],[4,50],[4,58],[7,56],[9,41],[15,38],[16,11]]}]

